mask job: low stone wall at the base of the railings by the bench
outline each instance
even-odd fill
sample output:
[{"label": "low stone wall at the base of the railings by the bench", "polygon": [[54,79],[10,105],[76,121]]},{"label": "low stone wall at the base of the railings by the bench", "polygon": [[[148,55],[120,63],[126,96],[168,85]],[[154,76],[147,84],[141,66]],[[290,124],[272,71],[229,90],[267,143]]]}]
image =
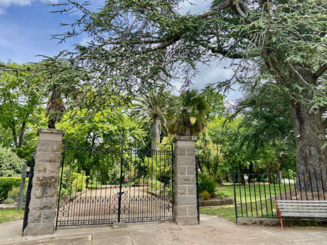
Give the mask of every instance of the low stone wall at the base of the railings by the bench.
[{"label": "low stone wall at the base of the railings by the bench", "polygon": [[[240,217],[237,219],[238,225],[262,225],[262,226],[278,226],[278,218],[265,217]],[[322,226],[327,227],[327,218],[283,218],[283,226]]]}]

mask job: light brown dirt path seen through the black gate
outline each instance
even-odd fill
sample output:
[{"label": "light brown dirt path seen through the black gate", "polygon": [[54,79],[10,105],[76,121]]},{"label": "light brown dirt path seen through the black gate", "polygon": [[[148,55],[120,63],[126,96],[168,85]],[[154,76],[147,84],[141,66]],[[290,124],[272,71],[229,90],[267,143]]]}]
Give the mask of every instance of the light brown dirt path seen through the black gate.
[{"label": "light brown dirt path seen through the black gate", "polygon": [[[167,195],[151,195],[148,186],[123,187],[121,221],[169,220],[172,205]],[[119,186],[103,185],[76,194],[60,204],[58,226],[109,224],[118,220]]]}]

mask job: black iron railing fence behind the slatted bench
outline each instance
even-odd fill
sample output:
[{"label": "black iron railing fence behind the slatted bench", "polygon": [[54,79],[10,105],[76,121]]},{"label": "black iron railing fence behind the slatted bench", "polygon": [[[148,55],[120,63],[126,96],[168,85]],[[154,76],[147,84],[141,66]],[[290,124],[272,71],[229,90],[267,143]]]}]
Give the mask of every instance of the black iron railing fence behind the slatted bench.
[{"label": "black iron railing fence behind the slatted bench", "polygon": [[277,217],[275,200],[326,200],[327,172],[233,173],[238,217]]}]

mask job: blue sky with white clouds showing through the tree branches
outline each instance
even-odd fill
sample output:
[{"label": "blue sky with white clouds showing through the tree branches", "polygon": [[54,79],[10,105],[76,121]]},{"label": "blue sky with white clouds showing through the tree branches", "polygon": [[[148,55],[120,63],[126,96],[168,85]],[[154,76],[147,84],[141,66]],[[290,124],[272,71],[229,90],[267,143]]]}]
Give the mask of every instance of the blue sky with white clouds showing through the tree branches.
[{"label": "blue sky with white clouds showing through the tree branches", "polygon": [[[60,0],[59,0],[60,1]],[[42,59],[38,55],[54,56],[62,50],[72,48],[73,43],[87,40],[86,36],[69,39],[66,43],[58,44],[51,35],[63,33],[65,29],[60,23],[72,23],[78,16],[75,14],[60,15],[50,11],[56,8],[49,6],[58,0],[0,0],[0,61],[15,63],[37,62]],[[91,8],[97,9],[103,0],[91,0]],[[180,13],[203,13],[208,10],[210,1],[193,0],[181,3]],[[223,81],[232,76],[228,60],[209,65],[198,64],[199,74],[192,81],[196,88],[203,88],[207,83]],[[175,82],[178,89],[180,83]],[[237,91],[229,91],[228,101],[241,97]]]}]

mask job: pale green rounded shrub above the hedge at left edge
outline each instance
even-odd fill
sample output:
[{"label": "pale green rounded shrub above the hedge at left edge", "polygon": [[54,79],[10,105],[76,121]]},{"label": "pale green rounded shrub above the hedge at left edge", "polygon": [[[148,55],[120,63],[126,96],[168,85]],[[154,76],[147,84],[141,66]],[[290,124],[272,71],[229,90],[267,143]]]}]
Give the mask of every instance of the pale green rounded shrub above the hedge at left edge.
[{"label": "pale green rounded shrub above the hedge at left edge", "polygon": [[19,176],[23,163],[15,153],[0,145],[0,177]]}]

